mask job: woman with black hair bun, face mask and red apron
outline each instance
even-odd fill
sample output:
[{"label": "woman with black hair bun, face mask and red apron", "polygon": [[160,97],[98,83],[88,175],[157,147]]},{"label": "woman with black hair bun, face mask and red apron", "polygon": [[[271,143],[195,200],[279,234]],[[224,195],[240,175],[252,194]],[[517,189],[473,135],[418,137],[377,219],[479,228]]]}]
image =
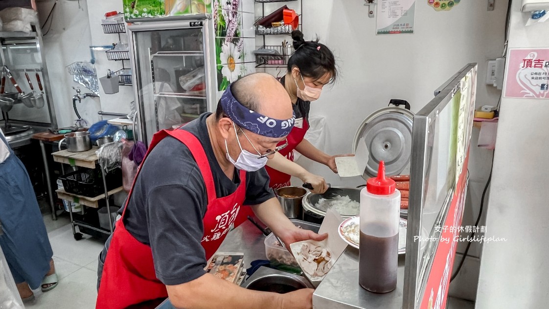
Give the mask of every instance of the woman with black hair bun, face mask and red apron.
[{"label": "woman with black hair bun, face mask and red apron", "polygon": [[270,187],[273,189],[289,186],[290,178],[295,176],[304,183],[312,184],[314,193],[323,193],[328,189],[324,178],[311,174],[293,163],[293,151],[296,150],[303,156],[326,165],[334,173],[337,173],[335,158],[348,156],[330,156],[304,139],[309,130],[311,101],[320,97],[324,85],[335,80],[337,69],[334,55],[326,45],[318,43],[318,40],[305,41],[299,30],[292,32],[292,39],[295,52],[288,60],[288,73],[281,82],[292,99],[295,125],[288,135],[288,147],[270,159],[266,169],[271,177]]}]

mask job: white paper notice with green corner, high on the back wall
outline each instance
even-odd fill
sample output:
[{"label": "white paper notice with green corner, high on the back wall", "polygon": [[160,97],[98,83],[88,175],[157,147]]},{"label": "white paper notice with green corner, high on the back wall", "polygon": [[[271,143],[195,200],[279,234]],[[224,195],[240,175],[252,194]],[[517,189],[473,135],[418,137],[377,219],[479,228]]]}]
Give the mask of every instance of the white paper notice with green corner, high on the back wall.
[{"label": "white paper notice with green corner, high on the back wall", "polygon": [[412,34],[416,0],[378,0],[377,34]]}]

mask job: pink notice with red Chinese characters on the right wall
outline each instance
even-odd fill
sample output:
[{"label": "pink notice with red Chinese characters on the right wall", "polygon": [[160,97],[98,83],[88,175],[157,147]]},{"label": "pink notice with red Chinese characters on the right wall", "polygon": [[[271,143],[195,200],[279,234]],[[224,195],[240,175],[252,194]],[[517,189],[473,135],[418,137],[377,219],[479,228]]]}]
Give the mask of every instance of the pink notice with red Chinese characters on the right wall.
[{"label": "pink notice with red Chinese characters on the right wall", "polygon": [[549,48],[513,48],[507,57],[506,98],[549,98]]}]

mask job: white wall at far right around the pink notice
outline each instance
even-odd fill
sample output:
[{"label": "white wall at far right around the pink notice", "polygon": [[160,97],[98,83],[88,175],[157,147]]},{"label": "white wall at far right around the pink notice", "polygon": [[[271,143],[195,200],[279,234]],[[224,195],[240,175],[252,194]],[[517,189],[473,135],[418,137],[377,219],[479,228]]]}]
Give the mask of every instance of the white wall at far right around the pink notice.
[{"label": "white wall at far right around the pink notice", "polygon": [[[509,47],[549,47],[548,24],[525,27],[528,14],[513,1]],[[546,308],[549,100],[503,98],[486,218],[477,308]]]}]

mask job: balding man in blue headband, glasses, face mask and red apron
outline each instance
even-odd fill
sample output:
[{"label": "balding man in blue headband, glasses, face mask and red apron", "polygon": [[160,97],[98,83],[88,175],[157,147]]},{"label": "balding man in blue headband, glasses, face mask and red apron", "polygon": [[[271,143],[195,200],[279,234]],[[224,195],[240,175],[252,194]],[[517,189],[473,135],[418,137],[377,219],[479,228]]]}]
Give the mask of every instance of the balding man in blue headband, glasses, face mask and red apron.
[{"label": "balding man in blue headband, glasses, face mask and red apron", "polygon": [[111,236],[96,308],[154,308],[168,296],[186,309],[312,307],[312,290],[250,291],[204,271],[250,207],[287,245],[326,237],[296,228],[268,188],[263,166],[295,120],[277,84],[245,76],[215,114],[155,134]]}]

